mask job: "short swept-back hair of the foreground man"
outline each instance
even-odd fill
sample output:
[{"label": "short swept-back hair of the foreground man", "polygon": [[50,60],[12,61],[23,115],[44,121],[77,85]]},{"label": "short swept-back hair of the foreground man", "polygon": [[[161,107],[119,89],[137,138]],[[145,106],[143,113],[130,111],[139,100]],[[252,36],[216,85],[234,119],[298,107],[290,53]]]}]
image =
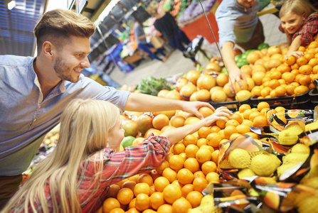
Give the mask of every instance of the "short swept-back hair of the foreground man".
[{"label": "short swept-back hair of the foreground man", "polygon": [[68,42],[70,35],[90,38],[95,32],[95,23],[82,14],[73,11],[55,9],[43,14],[33,30],[36,36],[38,53],[44,41],[49,40],[57,47]]}]

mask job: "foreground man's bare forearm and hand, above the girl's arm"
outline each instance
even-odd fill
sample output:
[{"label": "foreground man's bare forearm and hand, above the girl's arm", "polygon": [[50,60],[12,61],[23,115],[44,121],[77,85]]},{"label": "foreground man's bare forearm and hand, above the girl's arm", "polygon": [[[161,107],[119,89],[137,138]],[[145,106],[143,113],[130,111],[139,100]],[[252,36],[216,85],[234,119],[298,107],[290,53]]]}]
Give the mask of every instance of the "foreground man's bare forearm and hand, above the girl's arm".
[{"label": "foreground man's bare forearm and hand, above the girl's arm", "polygon": [[127,111],[166,111],[181,109],[196,115],[199,119],[203,116],[198,112],[201,107],[209,107],[214,110],[207,102],[186,102],[174,99],[164,99],[149,94],[129,94],[124,110]]}]

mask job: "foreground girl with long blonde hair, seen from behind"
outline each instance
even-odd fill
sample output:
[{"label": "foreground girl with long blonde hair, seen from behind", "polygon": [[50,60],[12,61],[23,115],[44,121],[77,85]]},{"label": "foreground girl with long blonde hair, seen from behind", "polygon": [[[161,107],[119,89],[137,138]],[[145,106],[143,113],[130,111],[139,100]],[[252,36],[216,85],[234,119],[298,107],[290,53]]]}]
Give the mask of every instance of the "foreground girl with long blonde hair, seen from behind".
[{"label": "foreground girl with long blonde hair, seen from behind", "polygon": [[124,138],[120,109],[110,102],[74,99],[60,119],[60,137],[2,212],[95,212],[108,187],[161,163],[169,148],[201,126],[232,114],[225,107],[194,124],[149,136],[116,152]]}]

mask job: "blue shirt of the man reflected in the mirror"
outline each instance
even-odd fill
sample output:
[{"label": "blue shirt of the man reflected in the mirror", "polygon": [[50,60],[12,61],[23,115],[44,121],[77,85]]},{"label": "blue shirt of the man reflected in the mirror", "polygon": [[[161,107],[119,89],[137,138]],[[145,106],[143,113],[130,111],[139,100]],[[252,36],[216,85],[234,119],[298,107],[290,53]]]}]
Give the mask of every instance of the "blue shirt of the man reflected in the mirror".
[{"label": "blue shirt of the man reflected in the mirror", "polygon": [[228,41],[248,42],[258,24],[257,12],[259,9],[259,0],[255,1],[252,8],[241,6],[236,0],[223,0],[216,10],[220,47]]}]

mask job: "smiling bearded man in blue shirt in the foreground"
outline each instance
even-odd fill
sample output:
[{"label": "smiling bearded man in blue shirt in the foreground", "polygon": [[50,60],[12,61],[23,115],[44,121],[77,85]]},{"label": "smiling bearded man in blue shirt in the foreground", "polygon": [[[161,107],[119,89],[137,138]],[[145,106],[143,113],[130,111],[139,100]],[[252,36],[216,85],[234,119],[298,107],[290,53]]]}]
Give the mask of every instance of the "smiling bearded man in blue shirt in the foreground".
[{"label": "smiling bearded man in blue shirt in the foreground", "polygon": [[146,94],[130,94],[84,77],[90,67],[90,36],[95,25],[72,11],[56,9],[43,15],[34,28],[36,58],[0,56],[0,209],[18,190],[44,136],[60,121],[75,98],[102,99],[129,111],[181,109],[203,116],[206,102],[183,102]]}]

